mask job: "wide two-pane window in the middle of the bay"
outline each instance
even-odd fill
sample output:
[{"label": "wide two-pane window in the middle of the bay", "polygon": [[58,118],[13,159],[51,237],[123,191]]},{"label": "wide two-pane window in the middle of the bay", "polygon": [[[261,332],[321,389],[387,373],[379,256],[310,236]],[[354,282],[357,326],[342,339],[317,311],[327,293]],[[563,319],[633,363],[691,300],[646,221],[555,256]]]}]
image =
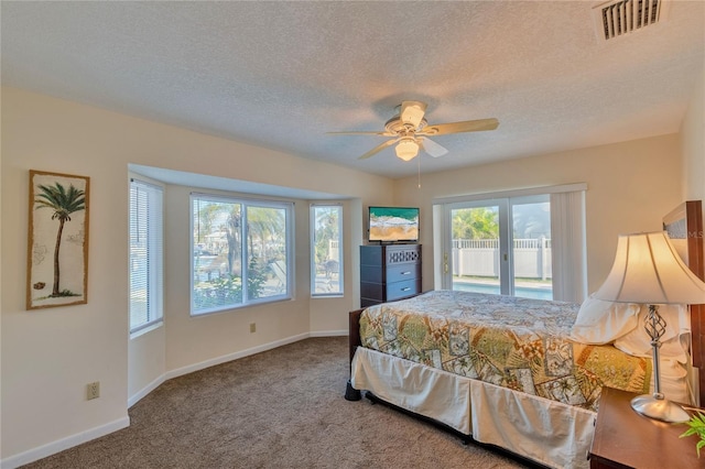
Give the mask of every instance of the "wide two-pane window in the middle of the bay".
[{"label": "wide two-pane window in the middle of the bay", "polygon": [[292,297],[293,204],[192,194],[192,314]]}]

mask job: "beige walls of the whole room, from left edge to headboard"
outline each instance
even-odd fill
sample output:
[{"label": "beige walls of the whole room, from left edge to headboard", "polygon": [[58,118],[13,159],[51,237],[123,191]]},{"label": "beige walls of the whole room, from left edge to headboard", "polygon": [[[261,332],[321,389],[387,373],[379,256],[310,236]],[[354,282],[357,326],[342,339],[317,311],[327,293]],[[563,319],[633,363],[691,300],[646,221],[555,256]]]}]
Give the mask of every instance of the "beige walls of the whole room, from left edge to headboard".
[{"label": "beige walls of the whole room, from left edge to headboard", "polygon": [[[663,135],[390,182],[340,167],[161,126],[15,89],[2,90],[1,435],[3,467],[31,460],[127,424],[128,399],[199,363],[236,357],[302,334],[347,329],[356,297],[362,208],[421,207],[424,288],[433,287],[432,199],[585,182],[588,281],[603,281],[618,233],[655,230],[687,197],[702,198],[705,150],[703,89],[681,135]],[[681,161],[681,146],[685,165]],[[276,305],[192,318],[187,304],[187,187],[167,186],[165,327],[129,340],[127,165],[135,163],[345,198],[343,298],[311,299],[307,206],[296,208],[296,298]],[[89,302],[24,310],[26,194],[30,168],[91,177]],[[276,168],[276,171],[272,171]],[[319,177],[325,174],[326,177]],[[685,188],[683,188],[685,186]],[[304,214],[305,212],[305,214]],[[175,251],[175,252],[174,252]],[[173,255],[172,255],[173,254]],[[248,325],[258,323],[258,334]],[[183,343],[182,343],[183,341]],[[85,384],[101,382],[87,402]]]}]

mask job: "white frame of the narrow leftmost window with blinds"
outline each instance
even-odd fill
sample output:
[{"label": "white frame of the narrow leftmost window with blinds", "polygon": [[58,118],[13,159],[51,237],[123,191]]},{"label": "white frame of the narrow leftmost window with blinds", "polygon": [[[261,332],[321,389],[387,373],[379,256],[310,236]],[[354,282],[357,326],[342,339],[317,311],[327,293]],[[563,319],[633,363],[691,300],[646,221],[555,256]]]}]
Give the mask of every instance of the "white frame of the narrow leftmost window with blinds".
[{"label": "white frame of the narrow leftmost window with blinds", "polygon": [[[132,317],[132,265],[134,262],[134,259],[132,258],[133,188],[143,190],[148,196],[148,215],[143,219],[143,221],[148,223],[148,227],[145,228],[148,231],[148,273],[145,279],[148,314],[147,320],[137,325],[133,324]],[[155,196],[158,196],[156,199],[154,199]],[[130,264],[130,269],[128,271],[130,295],[128,299],[128,320],[130,337],[135,337],[149,330],[153,330],[164,323],[164,186],[140,175],[130,175],[128,200],[128,262]],[[159,217],[154,217],[152,210],[159,214]],[[140,222],[141,221],[138,221],[138,223]],[[153,315],[151,313],[153,313]]]}]

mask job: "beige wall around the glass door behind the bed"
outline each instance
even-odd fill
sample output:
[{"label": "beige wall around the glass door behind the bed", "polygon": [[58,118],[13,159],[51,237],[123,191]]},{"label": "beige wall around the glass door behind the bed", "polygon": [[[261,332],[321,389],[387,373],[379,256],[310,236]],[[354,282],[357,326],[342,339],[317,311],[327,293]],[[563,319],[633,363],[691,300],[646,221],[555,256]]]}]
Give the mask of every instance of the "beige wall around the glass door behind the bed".
[{"label": "beige wall around the glass door behind the bed", "polygon": [[617,236],[661,229],[661,216],[681,201],[679,135],[533,156],[524,160],[424,174],[395,182],[394,203],[421,207],[423,287],[433,284],[432,200],[527,187],[587,183],[588,292],[611,268]]}]

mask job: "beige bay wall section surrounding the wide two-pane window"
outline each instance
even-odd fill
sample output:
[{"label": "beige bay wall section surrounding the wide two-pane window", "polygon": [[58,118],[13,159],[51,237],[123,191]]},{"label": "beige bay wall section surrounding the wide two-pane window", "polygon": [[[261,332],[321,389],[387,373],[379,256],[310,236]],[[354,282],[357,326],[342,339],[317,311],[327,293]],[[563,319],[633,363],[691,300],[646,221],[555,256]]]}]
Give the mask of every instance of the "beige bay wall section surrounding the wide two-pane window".
[{"label": "beige bay wall section surrounding the wide two-pane window", "polygon": [[[263,343],[308,334],[308,225],[295,225],[295,292],[294,301],[270,303],[247,308],[191,316],[191,237],[189,194],[192,188],[169,186],[166,189],[166,225],[172,233],[166,238],[165,291],[166,369],[181,370]],[[219,194],[217,192],[216,194]],[[295,219],[306,220],[308,206],[297,200]],[[250,334],[250,323],[257,332]],[[339,329],[344,329],[341,324]]]}]

